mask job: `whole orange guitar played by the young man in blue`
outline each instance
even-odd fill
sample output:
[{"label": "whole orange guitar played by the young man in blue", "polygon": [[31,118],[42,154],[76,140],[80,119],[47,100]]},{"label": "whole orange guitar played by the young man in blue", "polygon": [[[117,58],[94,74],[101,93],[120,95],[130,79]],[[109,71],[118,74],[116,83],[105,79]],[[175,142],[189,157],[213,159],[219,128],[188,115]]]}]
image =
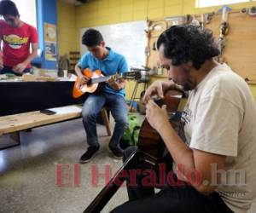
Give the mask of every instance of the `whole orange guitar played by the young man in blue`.
[{"label": "whole orange guitar played by the young man in blue", "polygon": [[118,79],[118,78],[128,78],[128,79],[134,79],[134,78],[141,78],[140,71],[135,72],[123,72],[123,73],[116,73],[114,75],[110,76],[104,76],[100,70],[96,70],[92,72],[89,68],[85,68],[82,72],[83,75],[87,78],[90,78],[90,80],[85,83],[81,84],[81,79],[83,76],[80,76],[76,79],[74,85],[73,85],[73,97],[79,98],[81,95],[84,95],[85,93],[94,93],[96,89],[99,86],[99,83],[106,82],[110,78]]}]

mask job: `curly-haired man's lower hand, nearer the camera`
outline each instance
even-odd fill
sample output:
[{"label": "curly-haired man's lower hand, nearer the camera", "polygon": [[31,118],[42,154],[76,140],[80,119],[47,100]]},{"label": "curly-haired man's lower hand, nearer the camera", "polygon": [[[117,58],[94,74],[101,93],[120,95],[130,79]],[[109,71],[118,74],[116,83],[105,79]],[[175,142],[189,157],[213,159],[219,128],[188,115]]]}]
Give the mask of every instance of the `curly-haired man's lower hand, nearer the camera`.
[{"label": "curly-haired man's lower hand, nearer the camera", "polygon": [[169,124],[166,105],[160,108],[153,100],[149,100],[146,105],[146,118],[148,123],[159,132],[164,125]]}]

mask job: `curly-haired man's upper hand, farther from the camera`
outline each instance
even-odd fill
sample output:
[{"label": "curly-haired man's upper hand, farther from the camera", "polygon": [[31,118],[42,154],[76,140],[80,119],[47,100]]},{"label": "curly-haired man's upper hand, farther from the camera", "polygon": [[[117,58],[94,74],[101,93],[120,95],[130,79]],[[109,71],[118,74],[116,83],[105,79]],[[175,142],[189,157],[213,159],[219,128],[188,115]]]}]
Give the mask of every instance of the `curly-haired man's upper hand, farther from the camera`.
[{"label": "curly-haired man's upper hand, farther from the camera", "polygon": [[143,96],[143,103],[147,104],[148,101],[152,99],[153,95],[158,95],[160,98],[164,98],[164,91],[161,81],[155,81],[148,87],[145,95]]}]

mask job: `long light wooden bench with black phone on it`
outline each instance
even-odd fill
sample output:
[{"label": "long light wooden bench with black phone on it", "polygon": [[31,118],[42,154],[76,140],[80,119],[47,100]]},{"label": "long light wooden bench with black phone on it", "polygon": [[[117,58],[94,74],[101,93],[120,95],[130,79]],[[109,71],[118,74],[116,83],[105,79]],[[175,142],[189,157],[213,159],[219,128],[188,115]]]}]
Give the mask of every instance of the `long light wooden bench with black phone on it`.
[{"label": "long light wooden bench with black phone on it", "polygon": [[[74,105],[71,107],[80,106]],[[57,112],[53,115],[46,115],[40,111],[34,111],[0,117],[0,146],[7,142],[7,145],[0,147],[0,150],[20,145],[20,130],[81,118],[81,112],[65,112],[67,108],[70,108],[70,106],[58,107],[56,109],[60,110],[61,113]],[[105,108],[102,109],[101,113],[103,123],[106,125],[107,133],[110,136],[111,128],[108,113]],[[11,142],[13,142],[13,144],[10,144]]]}]

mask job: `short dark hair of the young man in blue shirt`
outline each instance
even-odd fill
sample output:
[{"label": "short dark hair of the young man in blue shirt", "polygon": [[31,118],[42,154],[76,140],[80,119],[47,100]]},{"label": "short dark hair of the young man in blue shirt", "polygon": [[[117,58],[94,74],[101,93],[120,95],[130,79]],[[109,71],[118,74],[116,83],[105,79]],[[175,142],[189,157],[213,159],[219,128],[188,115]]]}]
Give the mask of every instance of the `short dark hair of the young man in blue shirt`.
[{"label": "short dark hair of the young man in blue shirt", "polygon": [[93,47],[100,44],[103,41],[102,33],[90,28],[82,37],[82,43],[87,47]]}]

